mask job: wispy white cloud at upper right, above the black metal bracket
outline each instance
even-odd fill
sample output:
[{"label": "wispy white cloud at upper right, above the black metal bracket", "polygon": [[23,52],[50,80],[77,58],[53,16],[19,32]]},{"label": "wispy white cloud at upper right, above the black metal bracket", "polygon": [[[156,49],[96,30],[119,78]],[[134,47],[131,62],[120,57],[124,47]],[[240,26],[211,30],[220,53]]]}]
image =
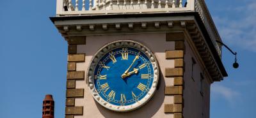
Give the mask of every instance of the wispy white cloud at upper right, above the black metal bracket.
[{"label": "wispy white cloud at upper right, above the black metal bracket", "polygon": [[237,12],[237,18],[213,17],[221,38],[231,45],[256,52],[256,1],[233,8],[233,11]]}]

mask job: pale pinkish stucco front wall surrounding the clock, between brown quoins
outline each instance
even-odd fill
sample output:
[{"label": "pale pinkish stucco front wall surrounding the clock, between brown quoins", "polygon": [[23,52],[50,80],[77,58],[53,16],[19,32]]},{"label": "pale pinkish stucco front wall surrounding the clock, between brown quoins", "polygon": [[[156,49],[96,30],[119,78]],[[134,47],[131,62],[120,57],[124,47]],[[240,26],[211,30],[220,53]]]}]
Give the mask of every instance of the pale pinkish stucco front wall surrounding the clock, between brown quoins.
[{"label": "pale pinkish stucco front wall surrounding the clock, between brown quoins", "polygon": [[[116,40],[134,40],[144,44],[150,48],[156,55],[160,68],[159,89],[146,105],[132,112],[116,113],[100,106],[97,101],[93,100],[90,89],[86,85],[86,81],[76,81],[76,88],[84,89],[84,98],[76,98],[75,106],[83,106],[83,116],[75,116],[75,118],[84,117],[159,117],[172,118],[173,114],[164,114],[164,103],[172,104],[173,96],[164,96],[164,87],[173,85],[173,78],[165,78],[164,68],[174,68],[174,61],[165,59],[165,50],[174,50],[174,41],[166,42],[166,34],[122,34],[122,35],[105,35],[105,36],[86,36],[86,45],[77,45],[77,53],[85,53],[86,59],[84,63],[77,63],[77,71],[87,71],[90,61],[99,50],[100,47]],[[93,45],[92,45],[93,44]],[[86,73],[85,73],[86,77]],[[87,78],[85,78],[86,80]]]}]

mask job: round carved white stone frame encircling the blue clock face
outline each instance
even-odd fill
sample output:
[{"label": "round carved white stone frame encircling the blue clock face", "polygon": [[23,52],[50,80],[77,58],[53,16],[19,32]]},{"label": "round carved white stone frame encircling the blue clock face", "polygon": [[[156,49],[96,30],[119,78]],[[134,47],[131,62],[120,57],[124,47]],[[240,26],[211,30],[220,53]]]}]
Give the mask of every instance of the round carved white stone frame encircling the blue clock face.
[{"label": "round carved white stone frame encircling the blue clock face", "polygon": [[[131,47],[131,48],[136,48],[137,50],[140,50],[145,55],[147,55],[148,59],[150,59],[150,63],[154,68],[153,83],[149,91],[147,92],[146,96],[142,98],[140,101],[137,101],[136,103],[132,105],[127,105],[127,106],[117,106],[103,100],[100,97],[99,93],[96,91],[95,85],[93,82],[94,71],[100,59],[109,51],[114,50],[115,48],[122,48],[122,47]],[[113,41],[111,43],[104,45],[102,48],[100,48],[96,52],[95,55],[93,55],[92,61],[90,62],[90,66],[87,71],[87,78],[88,78],[88,85],[89,85],[90,91],[92,92],[92,96],[95,99],[95,101],[97,101],[103,107],[108,108],[109,110],[113,110],[116,112],[129,112],[132,110],[136,110],[137,108],[140,108],[141,106],[145,105],[145,103],[147,103],[147,101],[149,101],[150,98],[152,98],[152,96],[154,95],[154,92],[156,91],[156,87],[157,87],[157,82],[159,80],[159,66],[157,64],[157,59],[155,55],[141,43],[138,43],[137,41],[132,41],[132,40],[118,40],[118,41]]]}]

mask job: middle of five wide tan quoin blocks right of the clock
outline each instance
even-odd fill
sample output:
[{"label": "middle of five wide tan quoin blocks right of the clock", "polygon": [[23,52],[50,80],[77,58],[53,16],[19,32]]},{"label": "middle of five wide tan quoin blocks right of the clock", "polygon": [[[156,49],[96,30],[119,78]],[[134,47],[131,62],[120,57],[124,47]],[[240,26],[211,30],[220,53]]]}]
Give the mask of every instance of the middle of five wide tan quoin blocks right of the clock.
[{"label": "middle of five wide tan quoin blocks right of the clock", "polygon": [[182,77],[183,68],[165,68],[165,77]]}]

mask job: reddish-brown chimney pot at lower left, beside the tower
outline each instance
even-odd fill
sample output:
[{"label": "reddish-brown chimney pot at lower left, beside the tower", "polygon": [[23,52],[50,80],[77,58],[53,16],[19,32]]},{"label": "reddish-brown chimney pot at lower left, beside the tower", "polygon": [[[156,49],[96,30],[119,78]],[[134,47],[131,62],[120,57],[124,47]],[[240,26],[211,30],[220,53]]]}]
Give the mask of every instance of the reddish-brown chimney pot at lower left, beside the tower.
[{"label": "reddish-brown chimney pot at lower left, beside the tower", "polygon": [[54,100],[51,94],[45,95],[42,118],[54,118]]}]

